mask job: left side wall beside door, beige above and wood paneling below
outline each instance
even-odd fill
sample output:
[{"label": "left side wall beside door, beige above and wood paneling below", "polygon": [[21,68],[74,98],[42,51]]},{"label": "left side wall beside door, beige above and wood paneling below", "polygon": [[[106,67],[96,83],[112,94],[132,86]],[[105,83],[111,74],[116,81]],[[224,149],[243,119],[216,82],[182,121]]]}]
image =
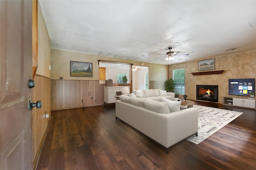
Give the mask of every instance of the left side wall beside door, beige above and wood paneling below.
[{"label": "left side wall beside door, beige above and wood paneling below", "polygon": [[38,158],[44,134],[49,122],[49,118],[45,118],[45,114],[51,116],[50,106],[50,87],[51,87],[51,73],[50,65],[50,38],[40,3],[38,3],[38,69],[36,71],[36,86],[33,88],[33,101],[42,101],[42,108],[33,108],[33,159],[34,164]]}]

